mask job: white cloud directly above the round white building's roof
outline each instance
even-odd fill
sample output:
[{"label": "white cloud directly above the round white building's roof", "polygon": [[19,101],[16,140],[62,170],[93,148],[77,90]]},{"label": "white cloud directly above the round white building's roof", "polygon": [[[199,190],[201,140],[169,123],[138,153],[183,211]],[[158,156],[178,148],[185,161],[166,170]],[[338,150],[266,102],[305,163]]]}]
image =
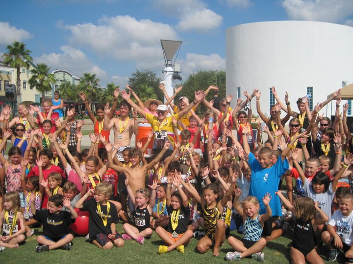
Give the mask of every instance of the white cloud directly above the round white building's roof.
[{"label": "white cloud directly above the round white building's roof", "polygon": [[352,0],[284,0],[282,6],[293,20],[337,23],[353,15]]}]

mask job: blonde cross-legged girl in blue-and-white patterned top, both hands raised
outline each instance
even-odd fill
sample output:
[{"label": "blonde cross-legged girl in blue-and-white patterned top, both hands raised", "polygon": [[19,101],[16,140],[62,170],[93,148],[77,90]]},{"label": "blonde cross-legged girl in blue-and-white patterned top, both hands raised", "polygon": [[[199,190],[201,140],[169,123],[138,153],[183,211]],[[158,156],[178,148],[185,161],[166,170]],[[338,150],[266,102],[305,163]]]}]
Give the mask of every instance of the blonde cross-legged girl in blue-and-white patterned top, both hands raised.
[{"label": "blonde cross-legged girl in blue-and-white patterned top, both hands raised", "polygon": [[260,205],[258,199],[253,196],[248,196],[241,203],[239,197],[241,190],[235,190],[234,209],[237,210],[244,221],[244,237],[237,240],[233,236],[228,237],[228,243],[234,248],[235,252],[228,252],[226,260],[241,260],[245,257],[252,256],[252,259],[264,261],[265,254],[261,252],[266,246],[266,239],[261,237],[264,222],[271,218],[272,211],[269,205],[271,196],[267,193],[262,202],[266,208],[266,214],[259,215]]}]

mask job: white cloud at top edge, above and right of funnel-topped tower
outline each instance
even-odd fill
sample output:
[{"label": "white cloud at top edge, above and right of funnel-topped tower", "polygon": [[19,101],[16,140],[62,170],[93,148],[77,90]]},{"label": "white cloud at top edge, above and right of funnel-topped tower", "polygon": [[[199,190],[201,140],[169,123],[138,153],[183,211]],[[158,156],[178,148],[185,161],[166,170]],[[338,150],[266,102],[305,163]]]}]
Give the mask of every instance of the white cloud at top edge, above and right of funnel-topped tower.
[{"label": "white cloud at top edge, above and right of funnel-topped tower", "polygon": [[207,9],[201,0],[155,0],[154,7],[164,14],[176,17],[176,28],[181,31],[208,33],[222,24],[222,16]]}]

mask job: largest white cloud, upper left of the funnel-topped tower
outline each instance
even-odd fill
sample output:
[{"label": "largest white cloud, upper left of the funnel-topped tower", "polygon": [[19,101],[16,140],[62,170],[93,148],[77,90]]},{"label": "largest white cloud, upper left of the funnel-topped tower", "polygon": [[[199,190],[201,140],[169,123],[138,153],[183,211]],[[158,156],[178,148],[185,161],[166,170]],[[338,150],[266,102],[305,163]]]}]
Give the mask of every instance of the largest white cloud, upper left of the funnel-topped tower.
[{"label": "largest white cloud, upper left of the funnel-topped tower", "polygon": [[161,55],[161,39],[178,39],[168,24],[137,21],[130,16],[103,17],[97,25],[84,23],[63,28],[71,31],[69,42],[73,46],[88,46],[100,56],[123,61],[154,60]]}]

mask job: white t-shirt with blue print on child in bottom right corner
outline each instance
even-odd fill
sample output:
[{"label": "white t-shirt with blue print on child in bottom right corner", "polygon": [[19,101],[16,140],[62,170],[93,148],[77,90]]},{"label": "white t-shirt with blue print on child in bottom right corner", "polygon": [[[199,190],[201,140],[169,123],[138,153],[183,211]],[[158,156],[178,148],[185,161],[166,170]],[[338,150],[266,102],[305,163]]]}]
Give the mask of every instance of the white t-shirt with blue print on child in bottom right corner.
[{"label": "white t-shirt with blue print on child in bottom right corner", "polygon": [[342,242],[351,246],[353,242],[352,225],[353,211],[349,216],[342,215],[340,210],[333,212],[333,215],[328,224],[336,226],[336,233],[341,237]]}]

